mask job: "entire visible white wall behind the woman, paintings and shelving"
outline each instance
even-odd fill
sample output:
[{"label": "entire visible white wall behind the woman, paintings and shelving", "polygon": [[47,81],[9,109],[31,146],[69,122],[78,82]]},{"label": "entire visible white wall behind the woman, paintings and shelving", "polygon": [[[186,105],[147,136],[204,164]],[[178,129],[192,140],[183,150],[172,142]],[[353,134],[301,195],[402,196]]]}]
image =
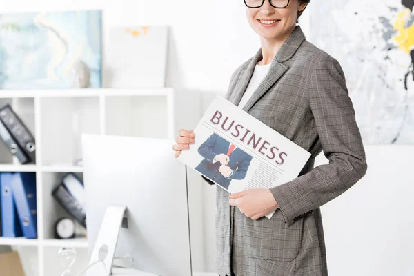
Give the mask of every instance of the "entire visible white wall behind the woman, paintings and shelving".
[{"label": "entire visible white wall behind the woman, paintings and shelving", "polygon": [[[177,130],[194,128],[211,97],[226,91],[231,72],[259,47],[241,0],[14,0],[2,3],[0,12],[95,8],[103,9],[104,55],[110,26],[171,27],[167,86],[179,92],[176,107],[187,110],[179,113]],[[302,28],[307,34],[304,15]],[[203,99],[201,104],[188,100],[197,95]],[[185,108],[188,105],[192,106]],[[409,203],[413,202],[414,181],[408,175],[414,147],[366,146],[366,152],[366,177],[322,207],[330,274],[414,275],[414,216],[410,212],[414,204]],[[213,271],[215,187],[202,184],[197,175],[191,183],[193,266]]]}]

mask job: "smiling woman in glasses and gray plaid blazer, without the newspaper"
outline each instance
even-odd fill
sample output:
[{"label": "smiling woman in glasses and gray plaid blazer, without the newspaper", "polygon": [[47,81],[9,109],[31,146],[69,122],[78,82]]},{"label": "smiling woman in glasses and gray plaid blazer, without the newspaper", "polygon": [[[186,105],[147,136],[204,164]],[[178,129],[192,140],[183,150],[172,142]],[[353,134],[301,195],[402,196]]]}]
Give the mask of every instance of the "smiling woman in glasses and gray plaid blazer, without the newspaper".
[{"label": "smiling woman in glasses and gray plaid blazer, without the newspaper", "polygon": [[[344,72],[296,25],[310,0],[244,2],[261,48],[233,72],[226,99],[311,158],[297,178],[274,188],[229,195],[217,187],[217,269],[221,276],[328,275],[319,207],[367,169]],[[180,130],[175,156],[194,141],[193,131]],[[322,150],[329,164],[313,168]]]}]

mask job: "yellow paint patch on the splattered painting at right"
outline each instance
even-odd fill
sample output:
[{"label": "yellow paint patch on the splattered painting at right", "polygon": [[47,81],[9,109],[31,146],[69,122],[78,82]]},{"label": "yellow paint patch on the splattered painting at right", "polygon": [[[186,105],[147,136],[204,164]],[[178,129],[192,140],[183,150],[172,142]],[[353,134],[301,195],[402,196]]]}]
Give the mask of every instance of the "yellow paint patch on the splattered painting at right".
[{"label": "yellow paint patch on the splattered painting at right", "polygon": [[411,17],[411,10],[406,8],[397,15],[394,28],[397,35],[394,37],[401,50],[408,53],[414,50],[414,24],[406,28],[406,21]]}]

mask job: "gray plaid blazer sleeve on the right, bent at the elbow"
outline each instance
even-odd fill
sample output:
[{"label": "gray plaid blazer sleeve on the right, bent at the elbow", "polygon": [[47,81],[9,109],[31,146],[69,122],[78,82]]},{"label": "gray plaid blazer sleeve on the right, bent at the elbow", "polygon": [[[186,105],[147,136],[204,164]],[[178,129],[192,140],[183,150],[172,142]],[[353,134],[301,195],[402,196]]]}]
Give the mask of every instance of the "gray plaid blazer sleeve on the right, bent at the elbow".
[{"label": "gray plaid blazer sleeve on the right, bent at the elbow", "polygon": [[288,226],[344,193],[367,170],[344,72],[333,57],[322,59],[315,67],[309,100],[320,139],[318,143],[329,164],[317,166],[292,181],[270,188]]}]

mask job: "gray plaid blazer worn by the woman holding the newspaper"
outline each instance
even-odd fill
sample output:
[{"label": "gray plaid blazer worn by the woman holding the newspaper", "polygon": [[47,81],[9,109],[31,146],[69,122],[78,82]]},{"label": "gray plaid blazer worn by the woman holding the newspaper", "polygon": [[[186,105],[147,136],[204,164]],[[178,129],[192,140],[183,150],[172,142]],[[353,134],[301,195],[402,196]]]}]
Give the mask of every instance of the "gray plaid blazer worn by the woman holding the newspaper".
[{"label": "gray plaid blazer worn by the woman holding the newspaper", "polygon": [[[226,99],[238,105],[261,59],[259,49],[233,72]],[[297,178],[270,189],[280,206],[271,219],[234,215],[238,208],[230,208],[228,192],[217,186],[219,274],[231,275],[237,227],[243,233],[241,255],[255,262],[245,275],[328,275],[319,207],[351,188],[367,169],[341,66],[296,26],[243,110],[311,152],[311,158]],[[329,164],[314,168],[322,150]]]}]

